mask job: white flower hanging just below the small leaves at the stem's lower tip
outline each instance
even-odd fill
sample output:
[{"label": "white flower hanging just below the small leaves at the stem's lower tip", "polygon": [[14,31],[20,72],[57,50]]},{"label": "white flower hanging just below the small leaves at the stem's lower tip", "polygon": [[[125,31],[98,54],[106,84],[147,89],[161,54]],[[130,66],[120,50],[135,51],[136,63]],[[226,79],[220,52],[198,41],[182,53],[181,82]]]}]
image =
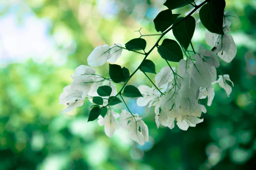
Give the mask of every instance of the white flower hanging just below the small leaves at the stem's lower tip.
[{"label": "white flower hanging just below the small leaves at the stem's lower tip", "polygon": [[98,123],[100,126],[104,125],[105,134],[108,137],[112,137],[116,129],[119,129],[117,118],[119,118],[119,114],[113,109],[108,109],[104,118],[101,115],[99,116]]}]

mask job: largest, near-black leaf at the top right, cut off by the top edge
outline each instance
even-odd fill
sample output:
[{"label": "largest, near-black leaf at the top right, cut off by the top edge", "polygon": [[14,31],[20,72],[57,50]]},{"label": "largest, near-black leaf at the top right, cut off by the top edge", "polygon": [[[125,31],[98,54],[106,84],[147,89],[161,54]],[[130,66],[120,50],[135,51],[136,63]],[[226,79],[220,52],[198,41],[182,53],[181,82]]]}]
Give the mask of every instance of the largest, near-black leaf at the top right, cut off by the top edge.
[{"label": "largest, near-black leaf at the top right, cut off by the top edge", "polygon": [[224,35],[222,25],[225,6],[225,0],[212,0],[200,9],[200,20],[210,32]]}]

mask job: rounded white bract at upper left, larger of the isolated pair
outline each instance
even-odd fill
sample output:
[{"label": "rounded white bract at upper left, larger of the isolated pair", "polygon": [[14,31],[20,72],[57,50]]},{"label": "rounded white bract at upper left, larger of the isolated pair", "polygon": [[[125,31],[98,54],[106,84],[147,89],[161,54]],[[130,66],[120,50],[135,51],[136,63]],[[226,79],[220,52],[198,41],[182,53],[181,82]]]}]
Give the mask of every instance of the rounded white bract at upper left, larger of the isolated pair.
[{"label": "rounded white bract at upper left, larger of the isolated pair", "polygon": [[98,67],[106,63],[111,58],[110,47],[105,44],[103,46],[96,47],[87,58],[87,62],[90,66]]}]

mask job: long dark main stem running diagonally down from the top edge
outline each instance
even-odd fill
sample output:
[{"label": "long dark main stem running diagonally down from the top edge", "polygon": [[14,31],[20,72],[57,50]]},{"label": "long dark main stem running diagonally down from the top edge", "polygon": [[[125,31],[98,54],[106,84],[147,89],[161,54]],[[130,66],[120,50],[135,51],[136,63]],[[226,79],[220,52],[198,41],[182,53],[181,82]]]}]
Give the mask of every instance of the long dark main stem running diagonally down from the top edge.
[{"label": "long dark main stem running diagonally down from the top edge", "polygon": [[[184,20],[186,20],[188,17],[190,17],[198,8],[202,7],[205,3],[207,3],[209,0],[205,0],[204,2],[202,2],[200,5],[196,6],[186,17],[184,17],[182,20],[178,21],[175,25],[180,24],[181,22],[183,22]],[[148,57],[148,55],[155,49],[155,47],[157,47],[159,41],[163,38],[164,35],[166,35],[169,31],[171,31],[173,29],[174,26],[172,26],[171,28],[169,28],[168,30],[166,30],[156,41],[155,45],[149,50],[149,52],[147,52],[145,54],[144,59],[142,60],[142,62],[139,64],[139,66],[137,67],[137,69],[131,74],[131,76],[126,80],[126,82],[124,83],[123,87],[121,88],[121,90],[117,93],[117,95],[115,95],[115,97],[113,97],[113,99],[106,105],[108,106],[119,94],[121,94],[122,90],[124,89],[125,85],[128,83],[128,81],[131,79],[131,77],[133,77],[133,75],[141,68],[142,63],[146,60],[146,58]],[[137,51],[136,51],[137,52]],[[143,53],[142,53],[143,54]],[[174,78],[175,80],[175,78]],[[176,82],[176,81],[175,81]],[[176,89],[176,86],[175,86]],[[106,107],[104,106],[104,107]]]}]

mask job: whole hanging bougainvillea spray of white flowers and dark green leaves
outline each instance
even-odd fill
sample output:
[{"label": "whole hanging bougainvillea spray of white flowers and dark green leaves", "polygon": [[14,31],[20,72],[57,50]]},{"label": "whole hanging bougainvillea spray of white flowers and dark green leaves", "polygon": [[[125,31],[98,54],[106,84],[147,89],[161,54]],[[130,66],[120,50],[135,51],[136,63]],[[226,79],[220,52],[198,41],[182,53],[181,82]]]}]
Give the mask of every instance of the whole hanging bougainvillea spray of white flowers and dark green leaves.
[{"label": "whole hanging bougainvillea spray of white flowers and dark green leaves", "polygon": [[[206,1],[204,3],[206,3]],[[203,7],[200,11],[207,10]],[[172,12],[167,10],[162,12],[172,14]],[[162,22],[157,21],[160,20],[160,15],[162,15],[161,12],[154,22],[156,30],[163,32],[168,27],[161,25]],[[122,47],[121,44],[96,47],[87,58],[87,62],[90,66],[80,65],[77,67],[74,76],[71,76],[73,79],[71,85],[66,86],[64,92],[60,95],[59,104],[67,106],[62,113],[66,113],[77,106],[82,106],[84,100],[88,98],[90,102],[96,104],[91,107],[88,121],[93,121],[98,118],[99,125],[104,125],[104,130],[108,137],[112,137],[116,129],[121,126],[121,128],[126,129],[129,136],[140,145],[143,145],[149,140],[148,127],[145,122],[139,118],[138,114],[131,113],[123,97],[136,97],[138,106],[155,106],[155,123],[157,128],[159,128],[161,124],[172,129],[175,126],[175,121],[181,130],[187,130],[189,126],[195,127],[196,124],[203,121],[203,119],[200,119],[202,112],[206,113],[206,108],[204,105],[200,104],[199,99],[208,97],[208,106],[210,106],[213,101],[215,93],[212,84],[219,83],[220,87],[226,91],[228,96],[232,91],[231,86],[227,84],[226,81],[230,81],[233,85],[229,75],[222,75],[221,73],[218,80],[216,80],[216,68],[220,66],[218,56],[229,63],[237,52],[232,36],[227,33],[230,31],[231,24],[228,17],[229,15],[226,11],[222,25],[224,34],[212,33],[216,32],[216,29],[211,30],[212,32],[206,31],[206,42],[212,47],[212,50],[205,49],[198,52],[195,52],[193,49],[191,43],[192,36],[190,37],[191,32],[187,30],[186,27],[186,18],[180,17],[176,19],[178,20],[176,23],[172,21],[175,23],[173,30],[174,35],[179,41],[185,57],[183,58],[181,48],[174,40],[165,39],[161,46],[156,43],[152,50],[157,47],[160,56],[165,59],[168,64],[168,66],[164,66],[159,73],[155,72],[155,64],[146,59],[152,50],[150,50],[149,53],[145,52],[146,41],[142,38],[129,41],[125,44],[125,48]],[[188,16],[187,20],[195,23],[191,16]],[[204,22],[203,24],[205,24],[204,18],[201,20],[203,20],[202,23]],[[181,26],[178,25],[182,22],[185,24],[180,24]],[[176,29],[175,27],[178,26],[180,26],[179,29]],[[187,36],[183,37],[183,35],[177,31],[182,29],[186,29]],[[168,31],[163,33],[163,35],[167,32]],[[189,37],[189,39],[187,39],[187,37]],[[185,41],[183,41],[184,38]],[[187,43],[188,41],[190,41],[189,44]],[[193,51],[187,50],[189,45],[192,46]],[[106,62],[116,62],[121,56],[123,49],[133,52],[143,50],[145,52],[137,52],[145,55],[145,57],[131,75],[127,68],[122,68],[117,64],[109,64],[110,78],[96,74],[95,69],[91,66],[97,67]],[[190,55],[190,52],[194,53],[193,56]],[[178,62],[178,68],[171,67],[168,61]],[[138,88],[132,85],[126,85],[137,70],[142,71],[147,78],[149,77],[146,73],[156,74],[155,83],[149,78],[153,84],[152,88],[146,85],[140,85]],[[122,82],[124,84],[122,84]],[[114,83],[122,85],[119,92],[117,92]],[[128,111],[125,109],[122,110],[120,115],[111,109],[111,106],[122,102],[118,98],[119,96],[128,109]],[[118,118],[119,122],[117,121]]]}]

